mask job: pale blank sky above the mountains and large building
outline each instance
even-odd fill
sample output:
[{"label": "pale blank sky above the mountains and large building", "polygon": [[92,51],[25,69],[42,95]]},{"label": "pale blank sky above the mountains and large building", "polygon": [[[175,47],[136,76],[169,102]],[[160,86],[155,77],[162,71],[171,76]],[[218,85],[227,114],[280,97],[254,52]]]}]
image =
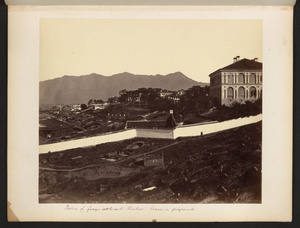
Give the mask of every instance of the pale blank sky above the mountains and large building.
[{"label": "pale blank sky above the mountains and large building", "polygon": [[234,56],[262,62],[262,20],[41,19],[40,80],[181,71],[201,82]]}]

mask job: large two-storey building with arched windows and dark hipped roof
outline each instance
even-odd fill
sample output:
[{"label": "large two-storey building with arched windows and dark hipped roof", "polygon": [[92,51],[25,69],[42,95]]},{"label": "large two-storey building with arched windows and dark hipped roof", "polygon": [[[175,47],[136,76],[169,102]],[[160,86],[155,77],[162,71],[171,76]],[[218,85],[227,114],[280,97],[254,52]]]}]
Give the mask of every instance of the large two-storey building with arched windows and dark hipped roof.
[{"label": "large two-storey building with arched windows and dark hipped roof", "polygon": [[211,73],[210,95],[221,105],[254,101],[262,96],[262,63],[233,58],[233,63]]}]

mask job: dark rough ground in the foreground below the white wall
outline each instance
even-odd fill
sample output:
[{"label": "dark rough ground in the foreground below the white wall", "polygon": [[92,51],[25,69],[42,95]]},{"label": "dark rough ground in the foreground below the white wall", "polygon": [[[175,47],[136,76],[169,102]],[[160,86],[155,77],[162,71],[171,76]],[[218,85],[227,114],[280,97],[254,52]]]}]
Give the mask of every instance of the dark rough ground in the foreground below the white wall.
[{"label": "dark rough ground in the foreground below the white wall", "polygon": [[[40,203],[260,203],[261,122],[40,155]],[[147,156],[163,158],[145,166]]]}]

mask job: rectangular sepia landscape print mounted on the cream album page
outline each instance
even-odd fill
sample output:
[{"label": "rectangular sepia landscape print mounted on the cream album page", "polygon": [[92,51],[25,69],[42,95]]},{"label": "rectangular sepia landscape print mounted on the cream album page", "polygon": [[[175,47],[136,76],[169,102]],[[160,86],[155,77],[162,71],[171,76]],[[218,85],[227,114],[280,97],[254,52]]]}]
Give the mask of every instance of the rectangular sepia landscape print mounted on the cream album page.
[{"label": "rectangular sepia landscape print mounted on the cream album page", "polygon": [[262,203],[262,20],[39,23],[40,204]]}]

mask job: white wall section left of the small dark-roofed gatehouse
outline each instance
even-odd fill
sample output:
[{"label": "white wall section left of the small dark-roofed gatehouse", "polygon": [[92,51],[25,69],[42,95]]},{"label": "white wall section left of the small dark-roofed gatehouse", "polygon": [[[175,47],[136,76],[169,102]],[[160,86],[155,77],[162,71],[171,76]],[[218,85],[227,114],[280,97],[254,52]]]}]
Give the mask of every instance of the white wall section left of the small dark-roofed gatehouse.
[{"label": "white wall section left of the small dark-roofed gatehouse", "polygon": [[84,139],[76,139],[72,141],[40,145],[39,153],[43,154],[43,153],[48,153],[49,151],[55,152],[55,151],[68,150],[72,148],[94,146],[101,143],[115,142],[115,141],[120,141],[125,139],[131,139],[135,137],[136,137],[136,130],[131,129],[131,130],[121,131],[117,133],[110,133],[110,134],[89,137]]}]

